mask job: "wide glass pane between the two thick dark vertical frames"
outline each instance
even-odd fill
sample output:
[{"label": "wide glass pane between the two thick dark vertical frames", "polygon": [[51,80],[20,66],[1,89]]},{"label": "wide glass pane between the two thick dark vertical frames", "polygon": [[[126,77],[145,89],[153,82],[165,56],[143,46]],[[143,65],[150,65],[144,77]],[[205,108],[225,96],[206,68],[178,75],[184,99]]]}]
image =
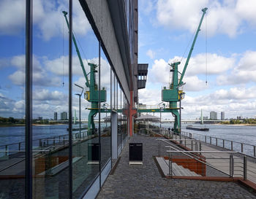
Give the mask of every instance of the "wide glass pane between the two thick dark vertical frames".
[{"label": "wide glass pane between the two thick dark vertical frames", "polygon": [[33,4],[33,198],[69,195],[68,9],[67,0]]}]

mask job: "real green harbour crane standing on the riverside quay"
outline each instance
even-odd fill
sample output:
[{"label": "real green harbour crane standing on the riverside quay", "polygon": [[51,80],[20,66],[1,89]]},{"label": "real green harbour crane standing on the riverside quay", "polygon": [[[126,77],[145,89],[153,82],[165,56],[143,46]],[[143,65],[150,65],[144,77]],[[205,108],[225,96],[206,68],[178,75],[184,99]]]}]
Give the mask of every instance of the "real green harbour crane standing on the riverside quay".
[{"label": "real green harbour crane standing on the riverside quay", "polygon": [[[199,23],[199,26],[198,26],[197,31],[195,33],[195,38],[194,38],[192,46],[189,50],[189,55],[187,57],[187,61],[185,63],[185,66],[184,66],[184,69],[183,69],[182,73],[180,73],[178,71],[178,65],[181,62],[176,62],[176,63],[169,64],[170,67],[171,67],[170,73],[172,73],[172,79],[171,79],[171,82],[170,82],[170,87],[168,87],[168,88],[164,87],[164,89],[162,90],[162,101],[169,102],[169,107],[168,108],[171,110],[170,112],[175,117],[173,131],[176,132],[176,133],[181,132],[181,125],[180,125],[181,118],[180,118],[180,114],[178,113],[177,102],[181,101],[181,99],[184,98],[184,92],[183,92],[183,90],[179,90],[179,88],[182,85],[185,84],[184,82],[182,82],[182,80],[183,80],[184,74],[187,70],[187,66],[189,64],[189,59],[190,59],[192,51],[194,49],[195,42],[197,40],[197,36],[198,36],[199,31],[200,31],[200,26],[202,25],[202,22],[203,22],[203,17],[206,14],[206,10],[207,10],[207,7],[202,9],[203,15],[200,19],[200,23]],[[181,74],[180,79],[178,79],[178,74]],[[181,109],[181,107],[180,107],[180,109]]]}]

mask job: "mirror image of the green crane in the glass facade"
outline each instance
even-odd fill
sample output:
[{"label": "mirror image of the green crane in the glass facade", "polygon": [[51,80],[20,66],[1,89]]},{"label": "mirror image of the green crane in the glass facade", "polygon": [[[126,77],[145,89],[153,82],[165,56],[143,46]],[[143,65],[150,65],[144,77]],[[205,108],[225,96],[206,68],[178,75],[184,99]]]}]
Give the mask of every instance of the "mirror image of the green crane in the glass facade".
[{"label": "mirror image of the green crane in the glass facade", "polygon": [[[69,22],[67,20],[67,12],[63,11],[63,14],[67,23],[67,28],[69,28]],[[85,93],[86,100],[91,103],[91,108],[89,108],[90,112],[88,116],[88,133],[93,134],[95,133],[94,117],[99,112],[99,89],[95,79],[95,74],[97,73],[97,65],[94,63],[88,63],[88,65],[90,66],[90,73],[89,73],[90,80],[89,80],[88,79],[89,74],[86,74],[86,69],[83,66],[83,61],[80,55],[80,51],[78,50],[78,44],[75,41],[75,36],[73,33],[72,33],[72,40],[73,40],[73,43],[75,44],[75,50],[78,54],[80,66],[83,70],[83,76],[86,78],[86,87],[89,88],[89,91],[86,91]],[[107,96],[107,93],[106,93],[105,87],[102,87],[102,90],[100,90],[100,102],[105,102],[106,96]]]}]

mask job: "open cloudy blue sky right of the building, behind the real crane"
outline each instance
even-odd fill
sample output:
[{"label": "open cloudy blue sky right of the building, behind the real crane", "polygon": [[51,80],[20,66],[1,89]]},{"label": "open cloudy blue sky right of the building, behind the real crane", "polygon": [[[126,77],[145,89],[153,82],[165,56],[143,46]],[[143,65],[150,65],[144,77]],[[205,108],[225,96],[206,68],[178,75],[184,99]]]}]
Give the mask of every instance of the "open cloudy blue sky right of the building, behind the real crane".
[{"label": "open cloudy blue sky right of the building, behind the real crane", "polygon": [[168,63],[181,61],[178,70],[183,70],[201,9],[208,7],[184,75],[182,119],[200,117],[201,109],[205,117],[217,112],[218,119],[220,112],[225,118],[256,117],[256,1],[138,2],[138,63],[148,63],[140,103],[161,102],[162,87],[170,84]]}]

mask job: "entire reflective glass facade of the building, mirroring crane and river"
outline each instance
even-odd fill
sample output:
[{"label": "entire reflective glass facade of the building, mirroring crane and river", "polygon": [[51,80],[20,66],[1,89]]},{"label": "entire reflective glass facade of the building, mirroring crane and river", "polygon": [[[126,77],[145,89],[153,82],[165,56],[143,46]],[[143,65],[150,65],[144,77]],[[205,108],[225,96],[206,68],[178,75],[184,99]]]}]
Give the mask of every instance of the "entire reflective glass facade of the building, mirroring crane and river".
[{"label": "entire reflective glass facade of the building, mirroring crane and river", "polygon": [[0,198],[97,192],[112,166],[112,112],[120,150],[126,141],[127,98],[79,1],[72,13],[70,2],[0,2],[15,13],[0,27]]}]

